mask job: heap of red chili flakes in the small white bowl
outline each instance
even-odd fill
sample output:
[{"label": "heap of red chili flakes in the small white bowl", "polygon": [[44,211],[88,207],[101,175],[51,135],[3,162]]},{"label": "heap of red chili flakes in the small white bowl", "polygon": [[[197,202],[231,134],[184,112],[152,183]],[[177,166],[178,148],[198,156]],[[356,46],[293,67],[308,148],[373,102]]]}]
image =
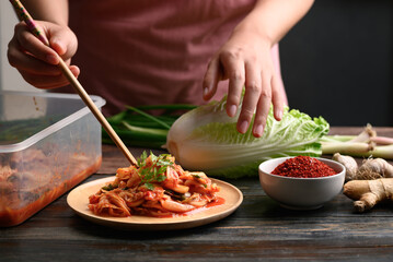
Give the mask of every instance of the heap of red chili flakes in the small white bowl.
[{"label": "heap of red chili flakes in the small white bowl", "polygon": [[333,176],[337,172],[316,158],[310,156],[297,156],[288,158],[278,165],[271,174],[294,178],[317,178]]}]

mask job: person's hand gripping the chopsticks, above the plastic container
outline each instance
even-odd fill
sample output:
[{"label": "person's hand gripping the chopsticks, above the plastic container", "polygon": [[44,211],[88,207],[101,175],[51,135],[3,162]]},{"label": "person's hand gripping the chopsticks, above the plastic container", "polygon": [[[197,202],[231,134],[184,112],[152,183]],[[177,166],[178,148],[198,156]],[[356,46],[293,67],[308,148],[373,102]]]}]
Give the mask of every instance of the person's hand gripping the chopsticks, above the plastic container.
[{"label": "person's hand gripping the chopsticks, above the plastic container", "polygon": [[[15,25],[14,35],[8,46],[10,64],[35,87],[47,90],[68,85],[68,80],[57,67],[58,55],[70,64],[78,48],[77,36],[68,26],[43,21],[36,23],[48,38],[51,48],[43,44],[30,32],[27,25],[21,22]],[[70,66],[70,70],[78,78],[79,68]]]}]

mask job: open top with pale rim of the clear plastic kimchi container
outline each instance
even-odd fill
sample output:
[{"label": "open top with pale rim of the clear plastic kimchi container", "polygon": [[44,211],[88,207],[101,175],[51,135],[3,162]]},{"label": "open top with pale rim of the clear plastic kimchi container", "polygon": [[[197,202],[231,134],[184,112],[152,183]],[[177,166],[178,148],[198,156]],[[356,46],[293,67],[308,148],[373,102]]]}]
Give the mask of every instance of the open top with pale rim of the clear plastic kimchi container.
[{"label": "open top with pale rim of the clear plastic kimchi container", "polygon": [[[90,96],[101,108],[105,100]],[[0,92],[0,153],[27,148],[37,141],[90,114],[76,94]]]}]

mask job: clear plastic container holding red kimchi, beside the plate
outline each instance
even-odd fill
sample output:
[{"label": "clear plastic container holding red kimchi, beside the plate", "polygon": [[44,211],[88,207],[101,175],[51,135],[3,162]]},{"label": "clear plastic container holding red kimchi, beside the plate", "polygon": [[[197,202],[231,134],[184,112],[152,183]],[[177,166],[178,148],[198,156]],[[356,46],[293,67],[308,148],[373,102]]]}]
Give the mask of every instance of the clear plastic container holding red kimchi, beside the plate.
[{"label": "clear plastic container holding red kimchi, beside the plate", "polygon": [[101,160],[101,126],[78,95],[0,92],[0,227],[26,221]]}]

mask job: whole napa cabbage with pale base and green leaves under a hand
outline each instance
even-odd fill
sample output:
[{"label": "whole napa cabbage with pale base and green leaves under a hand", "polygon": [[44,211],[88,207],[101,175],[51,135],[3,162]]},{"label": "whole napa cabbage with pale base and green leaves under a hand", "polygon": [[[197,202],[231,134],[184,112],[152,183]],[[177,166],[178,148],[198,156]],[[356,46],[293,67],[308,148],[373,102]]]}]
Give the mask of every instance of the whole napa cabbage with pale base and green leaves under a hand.
[{"label": "whole napa cabbage with pale base and green leaves under a hand", "polygon": [[319,141],[330,129],[322,117],[312,119],[286,107],[281,121],[276,121],[270,109],[265,132],[257,139],[251,128],[245,134],[236,131],[239,112],[228,117],[226,100],[200,106],[173,123],[165,146],[184,168],[239,178],[257,176],[257,166],[269,158],[322,154]]}]

